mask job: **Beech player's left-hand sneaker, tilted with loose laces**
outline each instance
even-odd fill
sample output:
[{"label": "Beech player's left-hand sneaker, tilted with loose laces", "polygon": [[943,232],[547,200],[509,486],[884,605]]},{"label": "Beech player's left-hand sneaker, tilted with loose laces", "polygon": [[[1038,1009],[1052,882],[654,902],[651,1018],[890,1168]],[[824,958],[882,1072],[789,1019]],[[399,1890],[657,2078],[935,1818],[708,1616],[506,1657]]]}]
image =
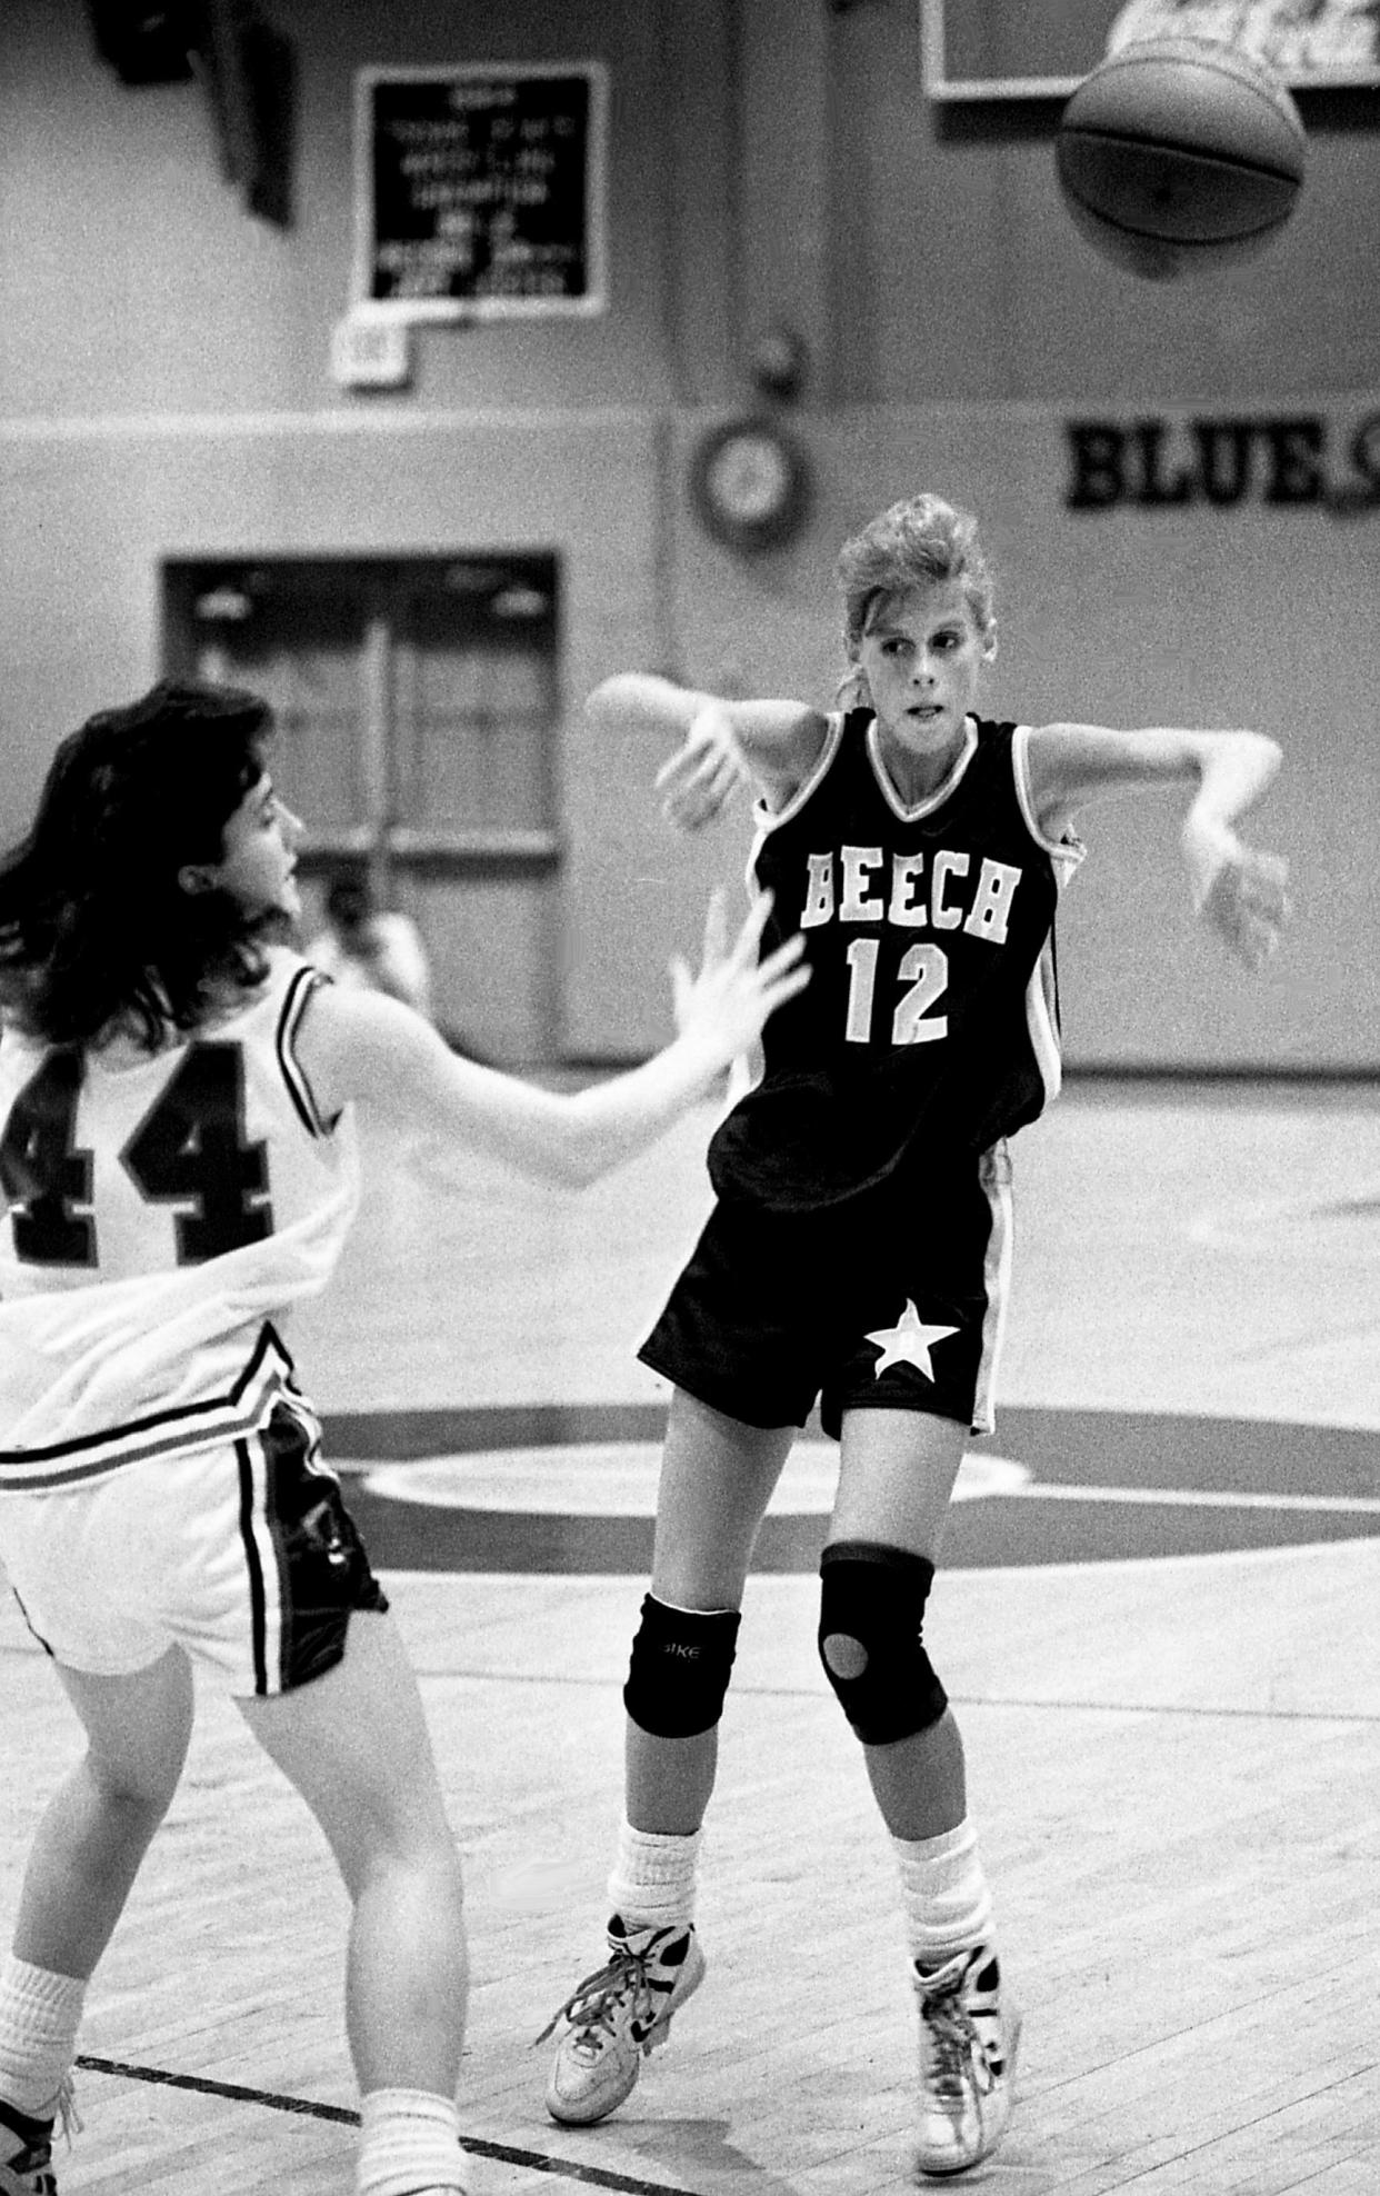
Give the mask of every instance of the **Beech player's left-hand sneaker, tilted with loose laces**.
[{"label": "Beech player's left-hand sneaker, tilted with loose laces", "polygon": [[632,2095],[641,2062],[671,2033],[671,2016],[704,1981],[704,1952],[693,1926],[608,1924],[608,1965],[584,1983],[546,2023],[544,2042],[557,2020],[566,2033],[546,2084],[546,2110],[566,2126],[588,2128],[614,2113]]}]

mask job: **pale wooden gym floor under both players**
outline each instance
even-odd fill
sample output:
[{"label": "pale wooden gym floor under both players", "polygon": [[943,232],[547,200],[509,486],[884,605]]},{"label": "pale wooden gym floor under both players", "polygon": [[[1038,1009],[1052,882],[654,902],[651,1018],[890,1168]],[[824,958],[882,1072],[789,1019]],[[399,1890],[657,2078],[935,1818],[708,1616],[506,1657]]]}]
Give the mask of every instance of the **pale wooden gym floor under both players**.
[{"label": "pale wooden gym floor under both players", "polygon": [[[467,1856],[480,2196],[908,2183],[891,1856],[814,1658],[829,1454],[763,1533],[700,1900],[711,1974],[623,2113],[555,2128],[533,2036],[601,1954],[656,1381],[695,1118],[584,1197],[371,1188],[292,1342],[421,1669]],[[1376,1089],[1075,1085],[1018,1159],[998,1432],[928,1640],[1025,2005],[1000,2196],[1380,2189]],[[1000,1410],[1000,1403],[1007,1408]],[[0,1616],[0,1900],[75,1757]],[[344,1897],[233,1708],[90,1992],[64,2196],[344,2196]]]}]

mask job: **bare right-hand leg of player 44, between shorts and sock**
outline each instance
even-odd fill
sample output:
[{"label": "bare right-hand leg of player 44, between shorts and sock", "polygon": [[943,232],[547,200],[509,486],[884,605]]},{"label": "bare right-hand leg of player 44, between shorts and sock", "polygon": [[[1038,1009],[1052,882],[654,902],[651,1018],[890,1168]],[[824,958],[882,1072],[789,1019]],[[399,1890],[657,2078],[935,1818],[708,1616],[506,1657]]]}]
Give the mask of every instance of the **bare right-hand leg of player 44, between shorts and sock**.
[{"label": "bare right-hand leg of player 44, between shorts and sock", "polygon": [[360,2088],[454,2097],[467,1998],[461,1862],[393,1618],[355,1612],[344,1662],[237,1706],[312,1807],[353,1900],[344,2003]]}]

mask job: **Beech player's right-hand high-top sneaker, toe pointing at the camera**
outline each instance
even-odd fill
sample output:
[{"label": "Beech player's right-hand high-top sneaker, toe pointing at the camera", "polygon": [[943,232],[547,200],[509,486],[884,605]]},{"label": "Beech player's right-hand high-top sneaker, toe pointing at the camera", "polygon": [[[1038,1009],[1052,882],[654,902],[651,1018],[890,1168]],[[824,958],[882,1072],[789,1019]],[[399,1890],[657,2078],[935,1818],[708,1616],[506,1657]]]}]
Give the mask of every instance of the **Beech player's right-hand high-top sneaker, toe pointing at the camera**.
[{"label": "Beech player's right-hand high-top sneaker, toe pointing at the camera", "polygon": [[921,2174],[963,2174],[1000,2143],[1011,2117],[1020,2018],[1000,2003],[996,1952],[979,1943],[941,1968],[915,1968],[919,1998]]}]

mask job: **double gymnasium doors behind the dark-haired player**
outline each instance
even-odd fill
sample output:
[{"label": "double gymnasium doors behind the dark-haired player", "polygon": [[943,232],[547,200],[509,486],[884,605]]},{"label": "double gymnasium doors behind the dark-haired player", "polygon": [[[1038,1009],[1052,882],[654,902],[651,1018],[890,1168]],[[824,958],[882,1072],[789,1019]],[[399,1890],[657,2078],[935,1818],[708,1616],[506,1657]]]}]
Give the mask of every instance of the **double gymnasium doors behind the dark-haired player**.
[{"label": "double gymnasium doors behind the dark-haired player", "polygon": [[274,707],[307,929],[364,859],[421,929],[441,1026],[509,1063],[559,1056],[557,615],[551,556],[165,567],[169,674]]}]

